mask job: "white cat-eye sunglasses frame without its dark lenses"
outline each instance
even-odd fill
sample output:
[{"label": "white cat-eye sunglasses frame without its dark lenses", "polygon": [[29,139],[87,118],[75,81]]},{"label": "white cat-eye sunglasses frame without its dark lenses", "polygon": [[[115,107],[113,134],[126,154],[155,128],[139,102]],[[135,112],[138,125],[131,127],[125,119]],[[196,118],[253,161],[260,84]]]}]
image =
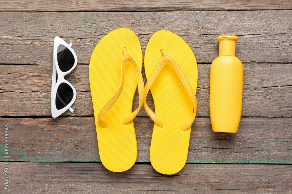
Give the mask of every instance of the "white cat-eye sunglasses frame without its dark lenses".
[{"label": "white cat-eye sunglasses frame without its dark lenses", "polygon": [[[74,56],[74,65],[67,72],[62,72],[60,70],[59,65],[58,65],[57,51],[58,51],[58,46],[59,45],[65,46],[67,49],[69,49],[69,51],[72,52],[72,54]],[[67,44],[60,37],[58,37],[58,36],[55,37],[55,39],[54,39],[54,49],[53,49],[53,76],[52,76],[52,90],[51,90],[51,109],[52,109],[52,117],[53,118],[56,118],[56,117],[60,116],[62,113],[64,113],[68,109],[69,109],[69,111],[71,113],[73,113],[73,111],[74,111],[73,108],[71,108],[71,106],[75,102],[75,99],[76,99],[76,90],[72,86],[71,83],[69,83],[67,80],[64,79],[64,76],[69,74],[70,72],[72,72],[72,70],[74,70],[74,68],[77,65],[77,55],[76,55],[76,53],[74,52],[74,50],[71,47],[72,47],[72,42],[70,44]],[[57,74],[58,74],[58,80],[56,81]],[[72,98],[71,102],[67,106],[65,106],[64,108],[58,110],[57,107],[56,107],[56,95],[57,95],[58,87],[60,86],[61,83],[67,83],[73,89],[73,98]]]}]

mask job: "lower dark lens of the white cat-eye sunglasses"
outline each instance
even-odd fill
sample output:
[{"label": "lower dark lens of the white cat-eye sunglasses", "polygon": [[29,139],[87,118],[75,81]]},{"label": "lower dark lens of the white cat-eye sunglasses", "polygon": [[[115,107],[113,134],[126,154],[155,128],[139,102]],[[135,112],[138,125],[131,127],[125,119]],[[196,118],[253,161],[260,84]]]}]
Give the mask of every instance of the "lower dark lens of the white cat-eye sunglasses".
[{"label": "lower dark lens of the white cat-eye sunglasses", "polygon": [[67,106],[73,99],[73,89],[67,83],[61,83],[56,95],[56,108],[58,110]]}]

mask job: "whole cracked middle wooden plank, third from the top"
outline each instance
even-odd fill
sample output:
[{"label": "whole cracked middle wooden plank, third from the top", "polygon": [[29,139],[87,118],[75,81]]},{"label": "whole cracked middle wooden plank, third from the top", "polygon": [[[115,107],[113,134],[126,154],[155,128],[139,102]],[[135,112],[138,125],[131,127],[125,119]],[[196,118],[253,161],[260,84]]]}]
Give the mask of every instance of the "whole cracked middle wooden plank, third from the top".
[{"label": "whole cracked middle wooden plank, third from the top", "polygon": [[[209,117],[211,64],[198,64],[197,116]],[[79,64],[67,76],[77,90],[74,113],[63,116],[93,116],[88,67]],[[0,116],[50,116],[52,65],[0,65]],[[244,63],[244,117],[291,117],[292,64]],[[145,72],[142,70],[144,83]],[[149,106],[154,107],[151,93]],[[133,108],[138,108],[138,92]],[[148,116],[142,107],[138,116]]]}]

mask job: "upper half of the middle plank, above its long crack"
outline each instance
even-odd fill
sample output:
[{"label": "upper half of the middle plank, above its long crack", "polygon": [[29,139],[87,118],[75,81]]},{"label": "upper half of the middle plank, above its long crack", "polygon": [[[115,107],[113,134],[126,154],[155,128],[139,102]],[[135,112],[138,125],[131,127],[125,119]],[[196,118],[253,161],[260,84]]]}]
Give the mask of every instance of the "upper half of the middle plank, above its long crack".
[{"label": "upper half of the middle plank, above its long crack", "polygon": [[[211,64],[198,63],[199,89],[210,87]],[[291,63],[244,63],[244,89],[282,87],[291,85]],[[78,64],[65,76],[77,92],[90,91],[88,64]],[[2,92],[51,92],[53,65],[0,65],[0,93]],[[276,72],[276,73],[275,73]],[[144,84],[144,65],[142,67]],[[284,79],[283,79],[284,78]],[[29,86],[29,87],[28,87]]]}]

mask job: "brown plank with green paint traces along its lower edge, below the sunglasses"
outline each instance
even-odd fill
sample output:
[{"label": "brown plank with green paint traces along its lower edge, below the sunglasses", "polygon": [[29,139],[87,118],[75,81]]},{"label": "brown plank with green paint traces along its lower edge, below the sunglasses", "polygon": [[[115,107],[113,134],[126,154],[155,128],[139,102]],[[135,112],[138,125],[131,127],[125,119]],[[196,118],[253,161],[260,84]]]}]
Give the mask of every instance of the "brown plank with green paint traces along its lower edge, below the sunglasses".
[{"label": "brown plank with green paint traces along its lower edge, below the sunglasses", "polygon": [[[1,118],[9,125],[9,154],[1,161],[100,161],[94,118]],[[150,118],[135,118],[137,162],[150,162]],[[188,163],[292,164],[292,118],[241,118],[237,133],[215,133],[210,118],[192,125]],[[0,130],[4,137],[4,130]]]}]

